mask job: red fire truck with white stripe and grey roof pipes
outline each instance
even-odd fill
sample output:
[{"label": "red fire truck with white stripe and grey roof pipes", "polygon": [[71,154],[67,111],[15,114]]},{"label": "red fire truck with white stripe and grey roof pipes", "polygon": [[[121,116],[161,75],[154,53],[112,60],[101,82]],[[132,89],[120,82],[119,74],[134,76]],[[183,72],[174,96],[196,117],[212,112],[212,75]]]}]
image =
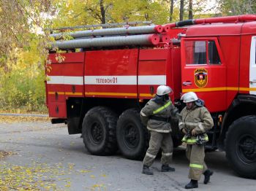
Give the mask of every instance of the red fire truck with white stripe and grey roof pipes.
[{"label": "red fire truck with white stripe and grey roof pipes", "polygon": [[[140,109],[157,86],[202,98],[214,119],[206,149],[224,150],[240,176],[256,178],[256,15],[51,34],[46,95],[52,122],[82,133],[92,155],[119,149],[143,158]],[[56,52],[56,47],[61,53]],[[173,122],[175,147],[182,134]]]}]

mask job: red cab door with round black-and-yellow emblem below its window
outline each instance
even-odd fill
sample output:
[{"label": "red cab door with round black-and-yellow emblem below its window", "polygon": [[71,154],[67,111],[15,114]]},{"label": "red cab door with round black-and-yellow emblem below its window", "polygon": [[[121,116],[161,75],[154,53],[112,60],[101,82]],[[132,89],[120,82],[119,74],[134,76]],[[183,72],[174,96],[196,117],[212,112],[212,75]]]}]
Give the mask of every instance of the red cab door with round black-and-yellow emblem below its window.
[{"label": "red cab door with round black-and-yellow emblem below its window", "polygon": [[182,93],[197,93],[210,112],[219,112],[226,109],[226,86],[226,66],[217,38],[182,39]]}]

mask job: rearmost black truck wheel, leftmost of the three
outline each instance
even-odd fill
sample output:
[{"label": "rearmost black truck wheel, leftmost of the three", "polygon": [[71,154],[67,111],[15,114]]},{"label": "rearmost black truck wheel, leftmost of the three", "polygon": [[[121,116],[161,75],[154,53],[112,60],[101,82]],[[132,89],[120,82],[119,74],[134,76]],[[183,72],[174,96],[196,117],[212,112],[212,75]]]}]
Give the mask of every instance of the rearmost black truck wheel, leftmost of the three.
[{"label": "rearmost black truck wheel, leftmost of the three", "polygon": [[97,106],[83,119],[82,136],[86,149],[92,155],[112,155],[117,150],[117,115],[110,109]]}]

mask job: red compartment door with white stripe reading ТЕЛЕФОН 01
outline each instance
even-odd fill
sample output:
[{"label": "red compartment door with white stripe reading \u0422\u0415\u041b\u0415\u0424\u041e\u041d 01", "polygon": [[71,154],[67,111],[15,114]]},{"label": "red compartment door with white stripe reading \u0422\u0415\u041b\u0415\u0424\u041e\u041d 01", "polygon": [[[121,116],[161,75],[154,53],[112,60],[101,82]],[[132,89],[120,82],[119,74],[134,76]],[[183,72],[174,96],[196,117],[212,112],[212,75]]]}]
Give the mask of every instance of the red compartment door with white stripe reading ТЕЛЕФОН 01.
[{"label": "red compartment door with white stripe reading \u0422\u0415\u041b\u0415\u0424\u041e\u041d 01", "polygon": [[138,49],[86,52],[86,97],[138,98]]}]

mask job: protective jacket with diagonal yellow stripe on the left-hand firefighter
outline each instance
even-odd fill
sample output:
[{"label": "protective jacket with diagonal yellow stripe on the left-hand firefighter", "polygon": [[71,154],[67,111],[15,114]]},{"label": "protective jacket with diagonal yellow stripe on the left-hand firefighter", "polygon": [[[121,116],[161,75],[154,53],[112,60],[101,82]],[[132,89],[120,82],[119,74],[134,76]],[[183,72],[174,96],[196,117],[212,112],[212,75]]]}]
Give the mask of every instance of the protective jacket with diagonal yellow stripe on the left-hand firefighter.
[{"label": "protective jacket with diagonal yellow stripe on the left-hand firefighter", "polygon": [[170,118],[176,117],[178,109],[173,106],[170,100],[158,102],[152,98],[140,112],[140,119],[148,130],[159,133],[169,133],[171,131]]}]

